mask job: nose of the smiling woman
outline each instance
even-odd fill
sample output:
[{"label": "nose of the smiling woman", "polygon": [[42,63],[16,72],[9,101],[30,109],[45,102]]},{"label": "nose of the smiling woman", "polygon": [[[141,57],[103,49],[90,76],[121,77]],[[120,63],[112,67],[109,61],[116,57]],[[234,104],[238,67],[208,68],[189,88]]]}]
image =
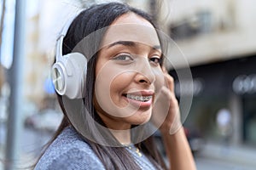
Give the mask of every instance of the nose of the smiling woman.
[{"label": "nose of the smiling woman", "polygon": [[139,65],[137,68],[135,81],[137,83],[151,84],[154,82],[154,80],[155,76],[147,59],[146,62],[143,62],[143,64]]}]

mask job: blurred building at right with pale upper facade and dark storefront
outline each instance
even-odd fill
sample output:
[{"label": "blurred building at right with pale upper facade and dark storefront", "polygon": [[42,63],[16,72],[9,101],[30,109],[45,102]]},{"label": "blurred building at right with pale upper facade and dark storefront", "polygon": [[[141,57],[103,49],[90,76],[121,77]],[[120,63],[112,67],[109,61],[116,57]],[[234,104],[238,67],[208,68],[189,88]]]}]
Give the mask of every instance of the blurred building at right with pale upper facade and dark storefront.
[{"label": "blurred building at right with pale upper facade and dark storefront", "polygon": [[167,56],[175,65],[169,65],[170,72],[177,78],[177,70],[188,69],[184,57],[194,79],[185,125],[212,141],[222,138],[216,120],[218,111],[226,109],[230,144],[256,145],[255,6],[252,0],[161,3],[158,19],[180,50],[173,48]]}]

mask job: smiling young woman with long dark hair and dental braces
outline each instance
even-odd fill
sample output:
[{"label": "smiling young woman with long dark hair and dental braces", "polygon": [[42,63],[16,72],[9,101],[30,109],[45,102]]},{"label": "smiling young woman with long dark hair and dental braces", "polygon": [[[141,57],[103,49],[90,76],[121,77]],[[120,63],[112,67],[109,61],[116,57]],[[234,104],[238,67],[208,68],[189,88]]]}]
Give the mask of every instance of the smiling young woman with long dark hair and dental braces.
[{"label": "smiling young woman with long dark hair and dental braces", "polygon": [[[35,169],[195,169],[162,65],[160,33],[148,14],[123,3],[87,8],[61,49],[86,56],[84,92],[75,99],[57,94],[64,118]],[[167,159],[149,122],[159,127]]]}]

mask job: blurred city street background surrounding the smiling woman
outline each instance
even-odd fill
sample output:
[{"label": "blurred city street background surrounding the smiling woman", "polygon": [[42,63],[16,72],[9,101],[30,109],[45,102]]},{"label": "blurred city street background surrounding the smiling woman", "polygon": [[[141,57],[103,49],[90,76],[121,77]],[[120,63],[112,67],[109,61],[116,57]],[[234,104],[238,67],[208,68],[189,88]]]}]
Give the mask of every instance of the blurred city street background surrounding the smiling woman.
[{"label": "blurred city street background surrounding the smiling woman", "polygon": [[[255,169],[256,1],[122,2],[152,14],[182,51],[172,51],[168,67],[176,87],[189,64],[193,100],[183,125],[198,169]],[[0,0],[0,170],[29,169],[61,122],[49,79],[55,40],[92,3],[102,1]]]}]

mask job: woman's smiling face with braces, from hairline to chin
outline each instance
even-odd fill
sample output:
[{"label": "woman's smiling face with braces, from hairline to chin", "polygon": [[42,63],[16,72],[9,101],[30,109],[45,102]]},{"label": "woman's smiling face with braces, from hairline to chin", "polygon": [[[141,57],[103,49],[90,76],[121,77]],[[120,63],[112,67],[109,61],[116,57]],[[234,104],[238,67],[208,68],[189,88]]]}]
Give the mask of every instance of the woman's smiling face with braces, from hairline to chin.
[{"label": "woman's smiling face with braces, from hairline to chin", "polygon": [[112,129],[148,122],[164,84],[154,26],[134,13],[109,26],[96,60],[94,105]]}]

